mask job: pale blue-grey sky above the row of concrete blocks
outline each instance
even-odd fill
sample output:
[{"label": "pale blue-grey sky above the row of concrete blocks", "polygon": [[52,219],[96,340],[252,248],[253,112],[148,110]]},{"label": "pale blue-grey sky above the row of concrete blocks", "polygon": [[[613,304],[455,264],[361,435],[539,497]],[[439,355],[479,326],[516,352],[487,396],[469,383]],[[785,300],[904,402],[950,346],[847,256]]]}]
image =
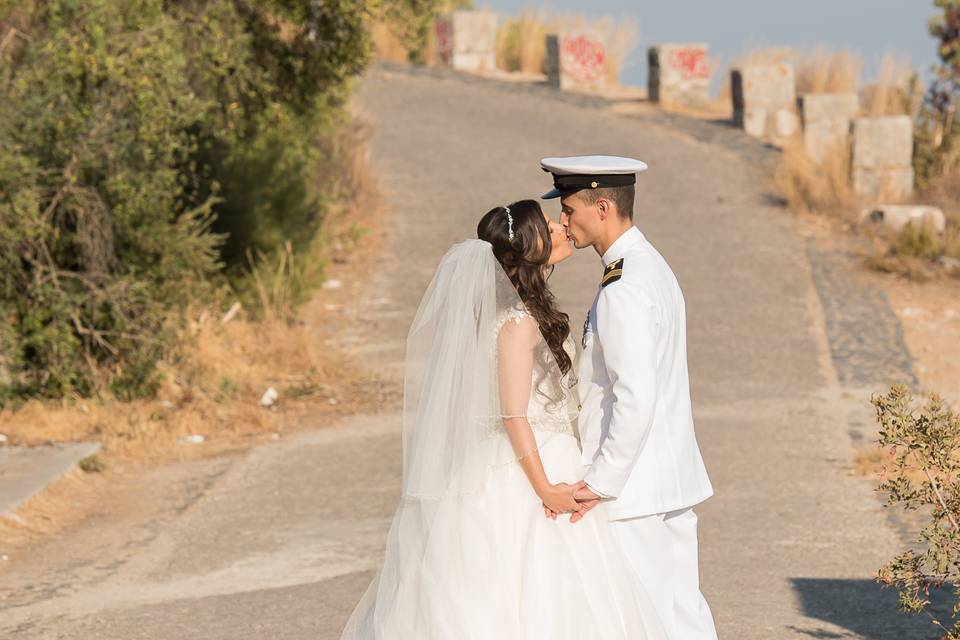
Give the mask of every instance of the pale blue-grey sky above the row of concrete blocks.
[{"label": "pale blue-grey sky above the row of concrete blocks", "polygon": [[501,16],[543,8],[547,15],[633,18],[639,42],[621,75],[621,82],[631,85],[646,84],[645,52],[659,42],[706,42],[721,68],[742,52],[768,46],[853,49],[863,58],[864,80],[876,73],[885,52],[907,58],[927,77],[937,61],[936,42],[927,31],[936,13],[932,0],[474,0],[474,5]]}]

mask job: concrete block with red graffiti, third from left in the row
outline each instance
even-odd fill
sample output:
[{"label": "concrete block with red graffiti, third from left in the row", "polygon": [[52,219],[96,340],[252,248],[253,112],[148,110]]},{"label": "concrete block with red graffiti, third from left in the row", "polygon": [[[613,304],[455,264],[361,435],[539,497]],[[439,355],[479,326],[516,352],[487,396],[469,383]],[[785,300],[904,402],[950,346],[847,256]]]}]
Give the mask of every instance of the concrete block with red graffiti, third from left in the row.
[{"label": "concrete block with red graffiti, third from left in the row", "polygon": [[697,106],[707,102],[710,64],[706,44],[660,44],[647,51],[651,102]]}]

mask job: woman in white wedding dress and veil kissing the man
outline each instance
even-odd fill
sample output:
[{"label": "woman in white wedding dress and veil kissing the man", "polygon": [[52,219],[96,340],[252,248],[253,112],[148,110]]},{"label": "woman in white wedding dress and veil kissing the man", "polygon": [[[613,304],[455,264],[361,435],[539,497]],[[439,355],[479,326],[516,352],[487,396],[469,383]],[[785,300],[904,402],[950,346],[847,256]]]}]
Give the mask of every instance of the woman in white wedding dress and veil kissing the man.
[{"label": "woman in white wedding dress and veil kissing the man", "polygon": [[[603,504],[573,524],[574,342],[547,287],[572,250],[533,200],[440,262],[407,337],[403,484],[344,640],[661,640]],[[551,517],[553,516],[553,517]]]}]

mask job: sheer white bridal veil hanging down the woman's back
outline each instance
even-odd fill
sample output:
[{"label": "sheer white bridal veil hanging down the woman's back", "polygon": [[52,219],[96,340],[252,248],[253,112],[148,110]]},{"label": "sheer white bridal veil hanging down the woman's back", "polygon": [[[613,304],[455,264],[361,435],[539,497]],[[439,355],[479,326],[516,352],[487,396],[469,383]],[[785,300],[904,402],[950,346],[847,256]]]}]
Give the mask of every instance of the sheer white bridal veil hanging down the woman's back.
[{"label": "sheer white bridal veil hanging down the woman's back", "polygon": [[[405,500],[476,492],[491,468],[515,459],[483,444],[499,432],[502,417],[526,415],[529,395],[501,389],[497,358],[501,325],[522,308],[489,243],[468,240],[441,260],[407,335]],[[533,355],[536,369],[547,372],[534,392],[562,401],[553,353],[541,341]]]}]

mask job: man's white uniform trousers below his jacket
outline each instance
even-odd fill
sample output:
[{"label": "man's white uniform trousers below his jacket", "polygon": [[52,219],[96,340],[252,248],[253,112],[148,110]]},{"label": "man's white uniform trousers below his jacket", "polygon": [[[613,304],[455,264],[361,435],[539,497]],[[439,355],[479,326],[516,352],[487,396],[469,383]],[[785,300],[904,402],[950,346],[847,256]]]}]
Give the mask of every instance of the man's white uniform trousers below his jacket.
[{"label": "man's white uniform trousers below his jacket", "polygon": [[674,640],[716,640],[700,593],[697,515],[693,509],[612,520],[613,531]]}]

